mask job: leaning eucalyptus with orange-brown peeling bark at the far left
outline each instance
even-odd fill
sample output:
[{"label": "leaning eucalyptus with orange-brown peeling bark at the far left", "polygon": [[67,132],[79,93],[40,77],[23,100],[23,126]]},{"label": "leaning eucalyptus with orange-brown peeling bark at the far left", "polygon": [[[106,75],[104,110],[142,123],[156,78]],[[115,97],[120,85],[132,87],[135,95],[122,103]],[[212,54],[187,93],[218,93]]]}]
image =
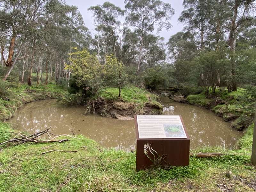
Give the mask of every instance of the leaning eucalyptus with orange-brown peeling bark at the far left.
[{"label": "leaning eucalyptus with orange-brown peeling bark at the far left", "polygon": [[[1,41],[1,55],[5,65],[9,67],[3,80],[6,80],[9,76],[17,60],[21,59],[19,55],[27,39],[34,35],[34,32],[42,23],[46,27],[47,23],[53,19],[52,15],[57,15],[57,13],[63,11],[59,10],[58,5],[60,5],[58,0],[2,1],[0,14],[1,39],[4,37],[10,39],[8,58],[6,60],[4,59],[4,44]],[[21,43],[15,49],[17,39],[20,39]],[[14,50],[17,52],[16,55]]]}]

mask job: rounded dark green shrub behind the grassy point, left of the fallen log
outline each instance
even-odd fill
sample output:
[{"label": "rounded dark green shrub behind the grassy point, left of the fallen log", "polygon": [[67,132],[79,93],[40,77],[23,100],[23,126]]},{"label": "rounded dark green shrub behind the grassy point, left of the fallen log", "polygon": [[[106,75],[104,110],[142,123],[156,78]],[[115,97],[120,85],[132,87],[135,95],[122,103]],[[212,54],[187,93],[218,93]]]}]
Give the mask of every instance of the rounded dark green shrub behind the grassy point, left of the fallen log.
[{"label": "rounded dark green shrub behind the grassy point, left of the fallen log", "polygon": [[161,66],[148,68],[143,73],[143,79],[147,89],[157,90],[167,85],[167,72]]}]

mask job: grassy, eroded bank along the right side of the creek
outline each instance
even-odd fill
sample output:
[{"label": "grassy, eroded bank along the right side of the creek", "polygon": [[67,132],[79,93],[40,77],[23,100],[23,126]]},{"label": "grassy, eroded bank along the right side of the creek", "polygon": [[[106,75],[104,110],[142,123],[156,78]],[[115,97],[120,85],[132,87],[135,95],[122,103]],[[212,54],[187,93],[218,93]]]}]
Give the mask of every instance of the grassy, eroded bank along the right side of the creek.
[{"label": "grassy, eroded bank along the right side of the creek", "polygon": [[256,100],[250,98],[242,88],[230,93],[218,90],[215,94],[202,92],[188,95],[186,99],[190,104],[211,109],[225,121],[232,122],[232,127],[236,130],[243,130],[253,121]]}]

